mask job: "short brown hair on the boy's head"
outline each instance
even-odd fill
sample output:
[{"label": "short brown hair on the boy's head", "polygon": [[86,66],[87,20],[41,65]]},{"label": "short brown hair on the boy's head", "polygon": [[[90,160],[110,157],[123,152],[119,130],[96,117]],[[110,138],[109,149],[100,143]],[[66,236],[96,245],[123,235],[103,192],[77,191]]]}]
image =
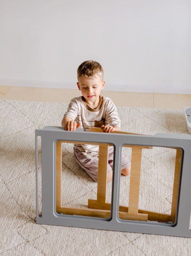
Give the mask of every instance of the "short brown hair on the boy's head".
[{"label": "short brown hair on the boy's head", "polygon": [[95,78],[96,75],[100,76],[101,80],[104,79],[104,71],[100,63],[93,60],[86,60],[79,65],[77,70],[78,81],[80,76],[86,76],[87,78]]}]

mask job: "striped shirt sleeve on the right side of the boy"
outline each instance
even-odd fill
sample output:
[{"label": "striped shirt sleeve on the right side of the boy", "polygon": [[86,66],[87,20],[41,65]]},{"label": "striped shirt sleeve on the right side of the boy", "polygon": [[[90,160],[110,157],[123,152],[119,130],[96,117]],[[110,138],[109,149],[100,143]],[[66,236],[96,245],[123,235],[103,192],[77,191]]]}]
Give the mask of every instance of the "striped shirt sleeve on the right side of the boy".
[{"label": "striped shirt sleeve on the right side of the boy", "polygon": [[121,120],[118,116],[117,108],[112,100],[108,100],[106,106],[106,122],[112,126],[119,126],[121,128]]}]

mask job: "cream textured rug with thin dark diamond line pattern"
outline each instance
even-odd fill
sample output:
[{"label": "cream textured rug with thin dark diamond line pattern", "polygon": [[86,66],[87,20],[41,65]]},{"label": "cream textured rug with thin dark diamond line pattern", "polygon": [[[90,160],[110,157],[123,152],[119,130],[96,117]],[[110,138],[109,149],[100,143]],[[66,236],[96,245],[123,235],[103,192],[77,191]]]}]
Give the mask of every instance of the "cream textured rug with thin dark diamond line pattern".
[{"label": "cream textured rug with thin dark diamond line pattern", "polygon": [[[61,126],[66,110],[64,103],[0,101],[0,254],[191,255],[190,238],[36,224],[35,129]],[[188,134],[183,110],[118,107],[118,113],[123,131]],[[123,151],[131,159],[131,149]],[[87,208],[97,183],[75,162],[71,144],[62,144],[62,155],[62,204]],[[143,150],[139,208],[170,213],[175,156],[169,148]],[[127,206],[129,180],[120,179],[120,204]],[[111,190],[109,182],[108,202]]]}]

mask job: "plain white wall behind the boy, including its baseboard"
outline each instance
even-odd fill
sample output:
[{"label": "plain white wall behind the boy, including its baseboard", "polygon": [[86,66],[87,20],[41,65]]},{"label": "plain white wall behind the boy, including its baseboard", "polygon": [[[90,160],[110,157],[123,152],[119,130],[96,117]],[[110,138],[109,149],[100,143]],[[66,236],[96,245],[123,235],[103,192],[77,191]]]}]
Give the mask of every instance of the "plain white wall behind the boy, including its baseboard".
[{"label": "plain white wall behind the boy, including its baseboard", "polygon": [[0,84],[76,88],[94,59],[105,89],[191,93],[189,0],[0,0]]}]

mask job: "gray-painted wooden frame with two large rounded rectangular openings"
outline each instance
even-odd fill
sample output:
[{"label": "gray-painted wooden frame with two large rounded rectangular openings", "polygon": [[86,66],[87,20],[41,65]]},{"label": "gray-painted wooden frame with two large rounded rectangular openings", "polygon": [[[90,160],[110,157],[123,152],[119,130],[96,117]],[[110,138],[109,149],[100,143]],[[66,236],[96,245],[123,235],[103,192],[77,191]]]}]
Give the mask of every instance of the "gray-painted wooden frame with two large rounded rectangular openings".
[{"label": "gray-painted wooden frame with two large rounded rectangular openings", "polygon": [[[38,136],[41,137],[42,160],[42,216],[38,202]],[[84,141],[111,143],[115,146],[114,175],[112,184],[111,216],[109,219],[77,215],[60,215],[56,212],[56,142]],[[119,218],[120,157],[126,145],[144,145],[180,148],[181,171],[174,223],[122,220]],[[131,135],[99,132],[65,131],[62,127],[47,126],[35,131],[36,148],[36,222],[60,226],[96,228],[124,232],[138,232],[169,236],[191,237],[189,221],[191,213],[191,136],[183,134]]]}]

